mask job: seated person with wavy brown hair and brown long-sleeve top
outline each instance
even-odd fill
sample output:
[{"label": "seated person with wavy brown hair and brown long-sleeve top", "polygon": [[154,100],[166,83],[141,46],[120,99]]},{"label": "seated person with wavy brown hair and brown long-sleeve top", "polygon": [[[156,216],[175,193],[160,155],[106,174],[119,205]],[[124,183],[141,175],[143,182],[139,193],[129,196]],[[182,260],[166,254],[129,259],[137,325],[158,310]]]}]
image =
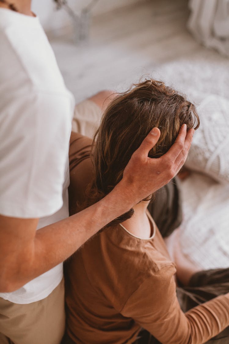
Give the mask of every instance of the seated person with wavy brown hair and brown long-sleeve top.
[{"label": "seated person with wavy brown hair and brown long-sleeve top", "polygon": [[[70,176],[77,181],[78,191],[82,190],[76,211],[115,187],[151,128],[158,127],[161,135],[149,157],[159,158],[172,146],[184,123],[187,130],[198,128],[195,106],[163,82],[148,79],[117,95],[103,114],[91,160],[90,139],[76,137],[82,142],[72,174],[74,159],[70,159]],[[81,175],[77,174],[79,165]],[[229,325],[229,293],[223,294],[225,289],[208,296],[202,290],[202,299],[193,298],[191,306],[187,304],[191,291],[176,289],[176,266],[147,210],[154,198],[148,195],[117,217],[66,262],[67,331],[63,343],[201,344]],[[214,276],[216,279],[216,273]],[[198,273],[197,277],[190,275],[190,283],[197,283],[199,277]],[[227,282],[227,290],[228,286]],[[214,298],[218,294],[222,295]]]}]

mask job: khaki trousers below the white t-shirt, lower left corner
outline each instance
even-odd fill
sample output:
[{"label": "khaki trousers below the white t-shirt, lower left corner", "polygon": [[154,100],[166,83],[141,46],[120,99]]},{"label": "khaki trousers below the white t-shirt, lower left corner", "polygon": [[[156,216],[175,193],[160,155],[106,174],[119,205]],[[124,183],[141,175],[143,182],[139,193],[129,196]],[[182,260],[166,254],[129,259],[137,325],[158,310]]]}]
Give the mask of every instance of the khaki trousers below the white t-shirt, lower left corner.
[{"label": "khaki trousers below the white t-shirt, lower left corner", "polygon": [[0,344],[60,344],[64,331],[64,279],[37,302],[17,304],[0,298]]}]

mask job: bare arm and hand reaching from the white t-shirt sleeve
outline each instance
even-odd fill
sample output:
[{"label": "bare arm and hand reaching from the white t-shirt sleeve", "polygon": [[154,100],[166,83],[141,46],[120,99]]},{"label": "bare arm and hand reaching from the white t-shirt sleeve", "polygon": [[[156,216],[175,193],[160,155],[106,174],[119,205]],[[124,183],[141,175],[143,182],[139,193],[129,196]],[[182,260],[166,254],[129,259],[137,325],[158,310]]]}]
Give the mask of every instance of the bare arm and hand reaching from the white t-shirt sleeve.
[{"label": "bare arm and hand reaching from the white t-shirt sleeve", "polygon": [[185,162],[193,132],[183,125],[170,150],[151,159],[148,152],[160,136],[154,128],[132,155],[123,179],[80,213],[38,231],[38,219],[0,216],[0,292],[17,290],[58,265],[107,223],[167,184]]}]

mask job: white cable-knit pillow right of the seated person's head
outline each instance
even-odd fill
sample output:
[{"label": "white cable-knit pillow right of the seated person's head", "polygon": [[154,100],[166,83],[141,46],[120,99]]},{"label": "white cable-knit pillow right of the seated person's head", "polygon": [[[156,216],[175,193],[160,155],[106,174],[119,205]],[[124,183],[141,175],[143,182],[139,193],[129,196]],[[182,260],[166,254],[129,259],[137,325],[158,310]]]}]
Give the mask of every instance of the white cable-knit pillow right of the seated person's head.
[{"label": "white cable-knit pillow right of the seated person's head", "polygon": [[185,166],[218,182],[229,183],[229,100],[209,95],[197,110],[201,124]]}]

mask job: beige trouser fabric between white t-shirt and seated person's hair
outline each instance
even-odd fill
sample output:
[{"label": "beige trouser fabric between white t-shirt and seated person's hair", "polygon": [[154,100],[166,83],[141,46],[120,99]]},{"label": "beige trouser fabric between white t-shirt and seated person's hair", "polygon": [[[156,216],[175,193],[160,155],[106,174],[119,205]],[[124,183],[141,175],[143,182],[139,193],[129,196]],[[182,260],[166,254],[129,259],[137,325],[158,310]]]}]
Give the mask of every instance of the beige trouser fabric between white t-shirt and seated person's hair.
[{"label": "beige trouser fabric between white t-shirt and seated person's hair", "polygon": [[92,138],[100,125],[101,108],[93,101],[86,99],[75,107],[72,120],[72,131]]}]

